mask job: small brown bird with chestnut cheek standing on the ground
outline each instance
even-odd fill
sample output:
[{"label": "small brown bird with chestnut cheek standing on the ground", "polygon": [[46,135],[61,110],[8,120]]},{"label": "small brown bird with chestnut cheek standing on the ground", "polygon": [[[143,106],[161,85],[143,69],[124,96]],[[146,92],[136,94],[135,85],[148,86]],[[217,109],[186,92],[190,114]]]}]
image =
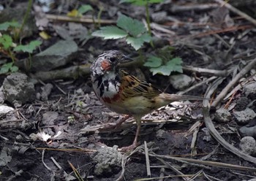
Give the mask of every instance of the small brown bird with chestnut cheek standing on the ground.
[{"label": "small brown bird with chestnut cheek standing on the ground", "polygon": [[132,116],[137,123],[135,139],[132,145],[121,148],[124,152],[138,146],[141,118],[144,115],[173,101],[204,99],[200,96],[163,93],[151,83],[120,69],[121,63],[129,61],[133,59],[121,51],[108,50],[100,54],[90,67],[92,87],[99,101],[113,112]]}]

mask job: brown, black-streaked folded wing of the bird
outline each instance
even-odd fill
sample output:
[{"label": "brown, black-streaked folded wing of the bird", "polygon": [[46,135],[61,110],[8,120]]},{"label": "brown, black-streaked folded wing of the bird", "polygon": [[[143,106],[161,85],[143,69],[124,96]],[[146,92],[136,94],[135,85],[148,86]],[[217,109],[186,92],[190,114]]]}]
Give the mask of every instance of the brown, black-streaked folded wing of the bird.
[{"label": "brown, black-streaked folded wing of the bird", "polygon": [[121,90],[125,97],[145,96],[151,99],[162,93],[161,90],[155,88],[151,83],[138,80],[137,77],[129,75],[124,71],[121,71],[121,74]]}]

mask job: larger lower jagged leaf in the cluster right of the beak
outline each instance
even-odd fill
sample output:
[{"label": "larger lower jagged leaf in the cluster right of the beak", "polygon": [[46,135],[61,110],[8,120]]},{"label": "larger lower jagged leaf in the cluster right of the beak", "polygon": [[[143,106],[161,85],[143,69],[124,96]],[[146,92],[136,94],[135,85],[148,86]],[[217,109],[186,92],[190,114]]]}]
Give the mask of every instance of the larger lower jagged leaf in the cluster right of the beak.
[{"label": "larger lower jagged leaf in the cluster right of the beak", "polygon": [[166,65],[153,67],[150,69],[152,74],[163,74],[163,75],[170,75],[171,72],[183,72],[181,66],[181,58],[173,58],[172,60],[168,61]]}]

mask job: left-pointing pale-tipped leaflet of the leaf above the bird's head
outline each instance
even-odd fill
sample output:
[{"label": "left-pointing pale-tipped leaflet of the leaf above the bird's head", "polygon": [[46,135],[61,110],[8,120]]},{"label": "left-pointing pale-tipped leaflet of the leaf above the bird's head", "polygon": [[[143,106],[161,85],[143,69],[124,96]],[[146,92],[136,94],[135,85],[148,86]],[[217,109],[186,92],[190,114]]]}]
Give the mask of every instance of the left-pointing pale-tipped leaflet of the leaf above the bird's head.
[{"label": "left-pointing pale-tipped leaflet of the leaf above the bird's head", "polygon": [[104,39],[120,39],[128,34],[116,26],[105,26],[101,27],[98,31],[94,31],[91,35],[103,37]]}]

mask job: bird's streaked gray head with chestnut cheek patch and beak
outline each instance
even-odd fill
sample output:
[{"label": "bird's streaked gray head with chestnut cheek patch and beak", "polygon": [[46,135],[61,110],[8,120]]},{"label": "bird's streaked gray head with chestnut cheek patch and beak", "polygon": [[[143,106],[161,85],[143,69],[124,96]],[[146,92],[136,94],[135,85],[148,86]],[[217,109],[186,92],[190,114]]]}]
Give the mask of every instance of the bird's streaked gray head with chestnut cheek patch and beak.
[{"label": "bird's streaked gray head with chestnut cheek patch and beak", "polygon": [[127,57],[118,50],[106,51],[99,55],[94,63],[91,64],[91,74],[96,76],[116,71],[120,63],[129,61],[132,61],[132,58]]}]

